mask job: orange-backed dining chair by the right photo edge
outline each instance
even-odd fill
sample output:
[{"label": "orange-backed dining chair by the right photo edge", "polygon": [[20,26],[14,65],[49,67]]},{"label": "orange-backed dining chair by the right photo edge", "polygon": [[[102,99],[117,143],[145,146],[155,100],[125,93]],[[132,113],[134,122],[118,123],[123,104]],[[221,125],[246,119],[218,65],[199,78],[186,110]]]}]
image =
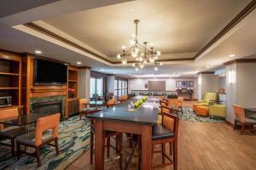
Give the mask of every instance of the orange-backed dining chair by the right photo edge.
[{"label": "orange-backed dining chair by the right photo edge", "polygon": [[233,105],[235,122],[233,129],[236,129],[237,122],[241,123],[241,135],[244,131],[246,125],[252,126],[256,125],[256,121],[250,117],[247,117],[244,113],[243,107],[241,105]]}]

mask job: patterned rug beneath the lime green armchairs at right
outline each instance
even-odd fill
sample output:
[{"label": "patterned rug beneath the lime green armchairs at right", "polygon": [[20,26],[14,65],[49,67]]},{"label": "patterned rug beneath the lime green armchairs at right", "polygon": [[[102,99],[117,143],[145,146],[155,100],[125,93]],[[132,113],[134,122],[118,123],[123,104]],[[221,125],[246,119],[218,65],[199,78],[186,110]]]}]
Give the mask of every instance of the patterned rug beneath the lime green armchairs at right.
[{"label": "patterned rug beneath the lime green armchairs at right", "polygon": [[210,116],[196,116],[191,108],[183,108],[183,114],[179,113],[180,120],[191,122],[224,122],[224,119]]}]

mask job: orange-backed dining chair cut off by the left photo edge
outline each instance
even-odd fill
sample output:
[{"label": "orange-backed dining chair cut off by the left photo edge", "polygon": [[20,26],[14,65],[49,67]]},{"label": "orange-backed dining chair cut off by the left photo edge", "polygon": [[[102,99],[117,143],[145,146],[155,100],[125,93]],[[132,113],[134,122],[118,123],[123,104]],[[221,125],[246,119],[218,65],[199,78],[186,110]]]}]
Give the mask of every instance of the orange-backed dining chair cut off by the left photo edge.
[{"label": "orange-backed dining chair cut off by the left photo edge", "polygon": [[[12,119],[19,116],[18,108],[4,109],[0,113],[0,120]],[[0,144],[7,145],[11,147],[12,156],[15,156],[15,138],[20,134],[26,133],[25,127],[4,127],[0,124],[0,137],[3,139],[10,139],[11,144],[6,144],[0,142]]]}]

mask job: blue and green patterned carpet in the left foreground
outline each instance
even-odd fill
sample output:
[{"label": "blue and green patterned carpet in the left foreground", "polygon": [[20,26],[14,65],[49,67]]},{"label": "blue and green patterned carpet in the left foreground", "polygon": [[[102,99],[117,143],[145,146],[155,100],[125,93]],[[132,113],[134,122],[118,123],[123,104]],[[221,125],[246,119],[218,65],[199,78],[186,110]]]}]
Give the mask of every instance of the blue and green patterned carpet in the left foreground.
[{"label": "blue and green patterned carpet in the left foreground", "polygon": [[84,152],[90,150],[90,120],[79,120],[73,116],[59,124],[60,155],[56,156],[55,147],[46,145],[41,150],[42,166],[32,156],[22,155],[17,161],[11,156],[10,148],[0,145],[0,169],[65,169]]}]

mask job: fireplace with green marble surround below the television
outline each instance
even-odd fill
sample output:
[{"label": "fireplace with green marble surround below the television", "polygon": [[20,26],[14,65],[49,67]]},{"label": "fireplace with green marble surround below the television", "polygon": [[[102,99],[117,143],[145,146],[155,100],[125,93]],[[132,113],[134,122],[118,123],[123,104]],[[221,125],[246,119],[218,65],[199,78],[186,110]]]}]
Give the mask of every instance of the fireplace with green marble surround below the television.
[{"label": "fireplace with green marble surround below the television", "polygon": [[49,96],[31,98],[30,111],[35,114],[61,113],[61,120],[64,120],[65,96]]}]

